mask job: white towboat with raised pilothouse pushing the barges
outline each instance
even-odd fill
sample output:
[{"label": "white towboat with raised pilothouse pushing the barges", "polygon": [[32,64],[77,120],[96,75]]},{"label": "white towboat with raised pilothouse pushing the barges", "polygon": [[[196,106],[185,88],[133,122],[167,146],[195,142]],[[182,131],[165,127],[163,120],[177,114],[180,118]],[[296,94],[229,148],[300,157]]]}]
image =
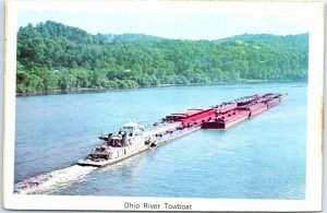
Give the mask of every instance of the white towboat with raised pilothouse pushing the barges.
[{"label": "white towboat with raised pilothouse pushing the barges", "polygon": [[78,165],[102,167],[113,164],[147,150],[149,137],[144,135],[143,128],[137,122],[123,125],[118,133],[110,133],[106,141],[93,147],[87,157],[80,159]]}]

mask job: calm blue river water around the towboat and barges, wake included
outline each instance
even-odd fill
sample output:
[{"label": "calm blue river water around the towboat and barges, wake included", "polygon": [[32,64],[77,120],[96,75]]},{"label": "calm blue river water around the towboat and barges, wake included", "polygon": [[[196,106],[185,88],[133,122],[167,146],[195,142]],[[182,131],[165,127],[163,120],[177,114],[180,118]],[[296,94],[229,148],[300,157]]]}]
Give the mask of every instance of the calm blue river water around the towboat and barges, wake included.
[{"label": "calm blue river water around the towboat and barges, wake included", "polygon": [[[305,199],[306,84],[171,86],[16,97],[15,192]],[[130,120],[256,93],[289,98],[228,130],[199,130],[106,168],[76,161]]]}]

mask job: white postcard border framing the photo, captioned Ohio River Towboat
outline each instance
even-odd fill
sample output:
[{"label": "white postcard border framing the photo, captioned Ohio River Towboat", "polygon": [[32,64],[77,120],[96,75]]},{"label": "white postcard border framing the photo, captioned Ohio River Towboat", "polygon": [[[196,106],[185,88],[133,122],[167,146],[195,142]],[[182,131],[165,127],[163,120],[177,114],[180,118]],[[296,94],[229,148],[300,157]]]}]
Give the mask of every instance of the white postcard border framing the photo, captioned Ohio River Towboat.
[{"label": "white postcard border framing the photo, captioned Ohio River Towboat", "polygon": [[[215,4],[216,1],[207,3]],[[5,31],[5,75],[4,75],[4,131],[3,131],[3,206],[16,210],[137,210],[158,211],[143,208],[144,202],[192,204],[192,211],[318,211],[322,208],[322,155],[323,155],[323,80],[324,80],[324,4],[322,2],[302,3],[222,3],[217,10],[231,14],[255,10],[261,12],[287,11],[296,14],[312,14],[310,31],[308,98],[307,98],[307,143],[306,143],[306,191],[305,200],[247,200],[247,199],[182,199],[182,198],[130,198],[130,197],[82,197],[82,196],[24,196],[13,194],[14,177],[14,133],[15,133],[15,56],[16,23],[20,10],[105,10],[114,3],[130,5],[129,1],[9,1],[7,2]],[[171,4],[192,4],[195,12],[198,3],[205,1],[133,1],[147,7],[171,7]],[[217,2],[216,2],[217,3]],[[90,7],[92,5],[92,7]],[[160,5],[160,7],[162,7]],[[180,7],[180,5],[179,5]],[[191,7],[192,8],[192,7]],[[215,11],[216,9],[216,11]],[[232,9],[232,10],[231,10]],[[252,11],[253,12],[253,11]],[[140,209],[126,209],[124,204],[138,203]],[[169,211],[160,209],[159,211]],[[175,211],[175,210],[174,210]]]}]

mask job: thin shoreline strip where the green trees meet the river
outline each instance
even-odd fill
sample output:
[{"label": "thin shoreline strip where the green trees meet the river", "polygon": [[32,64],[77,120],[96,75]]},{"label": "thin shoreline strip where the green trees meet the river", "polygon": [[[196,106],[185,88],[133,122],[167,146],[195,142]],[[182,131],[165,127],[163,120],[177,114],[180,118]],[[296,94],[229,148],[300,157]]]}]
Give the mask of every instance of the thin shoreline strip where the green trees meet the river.
[{"label": "thin shoreline strip where the green trees meet the river", "polygon": [[159,84],[152,86],[137,86],[129,88],[112,88],[112,87],[75,87],[70,90],[53,90],[53,91],[43,91],[34,93],[16,93],[16,97],[24,96],[38,96],[38,95],[58,95],[58,94],[72,94],[72,93],[83,93],[83,92],[104,92],[104,91],[119,91],[119,90],[135,90],[135,88],[155,88],[155,87],[170,87],[170,86],[205,86],[205,85],[228,85],[228,84],[257,84],[257,83],[307,83],[307,81],[294,81],[294,80],[239,80],[229,82],[211,82],[211,83],[190,83],[190,84]]}]

